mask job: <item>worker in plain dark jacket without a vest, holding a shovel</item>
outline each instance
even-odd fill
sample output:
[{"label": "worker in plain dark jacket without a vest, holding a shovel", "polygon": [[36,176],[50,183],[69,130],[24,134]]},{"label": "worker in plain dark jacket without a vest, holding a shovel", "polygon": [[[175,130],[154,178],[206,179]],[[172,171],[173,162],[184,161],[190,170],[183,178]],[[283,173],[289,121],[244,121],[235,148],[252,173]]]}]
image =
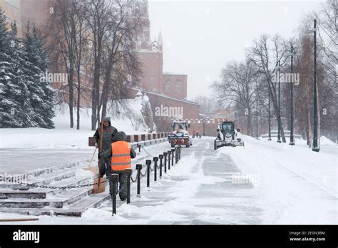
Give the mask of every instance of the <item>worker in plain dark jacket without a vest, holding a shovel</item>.
[{"label": "worker in plain dark jacket without a vest, holding a shovel", "polygon": [[[116,133],[118,133],[118,130],[111,125],[111,118],[105,117],[103,118],[102,122],[103,122],[102,152],[105,152],[106,150],[108,150],[108,148],[111,147],[111,143],[113,143],[114,137]],[[98,148],[101,145],[100,133],[101,133],[101,123],[100,127],[96,129],[96,132],[94,134],[94,138],[96,140],[95,144],[96,148]],[[109,160],[102,157],[100,171],[103,172],[104,174],[106,172],[106,167],[109,166],[110,166]]]}]

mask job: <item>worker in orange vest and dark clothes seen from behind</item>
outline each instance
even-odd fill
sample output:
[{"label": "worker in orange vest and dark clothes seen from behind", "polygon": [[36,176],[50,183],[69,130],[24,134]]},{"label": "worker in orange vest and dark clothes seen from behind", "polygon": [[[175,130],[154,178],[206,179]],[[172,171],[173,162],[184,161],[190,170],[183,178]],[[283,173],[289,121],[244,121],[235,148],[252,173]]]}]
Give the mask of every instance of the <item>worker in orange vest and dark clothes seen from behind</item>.
[{"label": "worker in orange vest and dark clothes seen from behind", "polygon": [[[111,195],[113,192],[113,182],[111,180],[111,174],[118,174],[119,196],[122,201],[127,198],[127,185],[126,185],[126,169],[131,168],[131,159],[136,157],[135,150],[131,148],[130,143],[126,142],[127,135],[124,132],[118,132],[115,135],[114,142],[110,148],[104,153],[100,153],[101,157],[105,157],[111,161],[111,170],[107,169],[107,177],[109,178],[109,192]],[[101,173],[103,177],[104,173]]]}]

